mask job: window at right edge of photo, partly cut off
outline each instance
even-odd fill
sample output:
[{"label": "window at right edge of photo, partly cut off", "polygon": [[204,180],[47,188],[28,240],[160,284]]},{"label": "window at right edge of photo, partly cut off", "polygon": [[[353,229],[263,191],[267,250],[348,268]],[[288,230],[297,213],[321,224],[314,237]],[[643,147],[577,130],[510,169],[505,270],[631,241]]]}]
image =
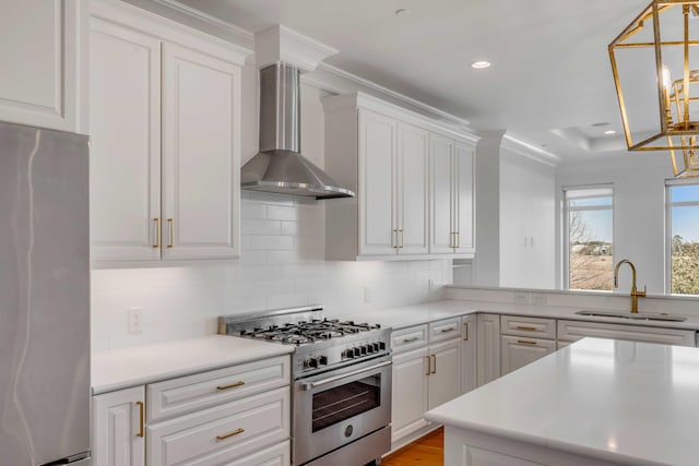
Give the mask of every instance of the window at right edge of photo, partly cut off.
[{"label": "window at right edge of photo, partly cut off", "polygon": [[699,295],[699,181],[666,182],[670,292]]}]

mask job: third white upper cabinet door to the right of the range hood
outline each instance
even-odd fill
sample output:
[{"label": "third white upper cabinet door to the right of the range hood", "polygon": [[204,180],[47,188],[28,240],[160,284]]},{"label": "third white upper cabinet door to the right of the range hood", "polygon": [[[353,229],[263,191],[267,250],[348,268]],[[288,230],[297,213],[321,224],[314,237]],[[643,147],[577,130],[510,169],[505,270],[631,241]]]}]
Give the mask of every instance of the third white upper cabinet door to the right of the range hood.
[{"label": "third white upper cabinet door to the right of the range hood", "polygon": [[452,157],[454,142],[439,134],[429,136],[430,168],[430,244],[431,253],[453,253],[454,230],[452,215],[454,211],[452,196]]}]

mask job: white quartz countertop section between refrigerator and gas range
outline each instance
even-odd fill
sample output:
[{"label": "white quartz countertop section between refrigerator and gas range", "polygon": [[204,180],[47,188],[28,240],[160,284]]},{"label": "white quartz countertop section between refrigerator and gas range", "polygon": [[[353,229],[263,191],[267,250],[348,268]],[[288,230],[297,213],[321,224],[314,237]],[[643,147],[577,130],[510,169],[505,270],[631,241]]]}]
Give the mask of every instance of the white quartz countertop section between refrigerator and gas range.
[{"label": "white quartz countertop section between refrigerator and gas range", "polygon": [[227,335],[181,339],[92,355],[93,394],[286,355],[276,345]]}]

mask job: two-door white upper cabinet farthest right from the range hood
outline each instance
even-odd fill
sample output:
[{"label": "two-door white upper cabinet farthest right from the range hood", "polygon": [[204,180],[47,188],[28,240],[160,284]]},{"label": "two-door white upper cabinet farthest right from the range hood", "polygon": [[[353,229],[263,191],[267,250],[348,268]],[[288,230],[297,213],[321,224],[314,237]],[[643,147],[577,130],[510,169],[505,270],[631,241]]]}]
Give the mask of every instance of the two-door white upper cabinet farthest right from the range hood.
[{"label": "two-door white upper cabinet farthest right from the range hood", "polygon": [[441,134],[430,135],[433,254],[472,256],[474,242],[473,146]]}]

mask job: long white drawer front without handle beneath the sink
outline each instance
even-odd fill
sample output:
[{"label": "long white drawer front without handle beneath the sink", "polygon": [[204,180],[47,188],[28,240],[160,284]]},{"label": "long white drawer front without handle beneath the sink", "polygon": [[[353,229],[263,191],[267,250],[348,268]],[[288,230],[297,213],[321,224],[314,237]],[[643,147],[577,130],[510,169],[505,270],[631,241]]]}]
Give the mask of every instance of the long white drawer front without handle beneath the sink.
[{"label": "long white drawer front without handle beneath the sink", "polygon": [[600,322],[558,321],[558,339],[576,342],[585,336],[695,346],[695,331]]}]

